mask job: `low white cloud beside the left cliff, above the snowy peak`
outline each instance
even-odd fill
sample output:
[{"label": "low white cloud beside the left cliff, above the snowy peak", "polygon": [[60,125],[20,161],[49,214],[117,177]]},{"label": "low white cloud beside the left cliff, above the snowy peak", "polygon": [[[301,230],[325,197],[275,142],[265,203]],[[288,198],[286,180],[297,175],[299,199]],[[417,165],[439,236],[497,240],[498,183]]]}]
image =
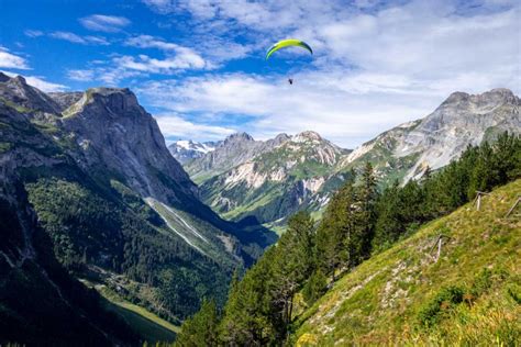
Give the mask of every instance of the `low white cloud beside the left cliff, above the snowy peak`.
[{"label": "low white cloud beside the left cliff, above the snowy peak", "polygon": [[208,124],[196,124],[182,119],[179,115],[160,114],[155,115],[163,135],[167,142],[191,138],[191,139],[222,139],[223,137],[235,133],[233,128],[215,126]]}]

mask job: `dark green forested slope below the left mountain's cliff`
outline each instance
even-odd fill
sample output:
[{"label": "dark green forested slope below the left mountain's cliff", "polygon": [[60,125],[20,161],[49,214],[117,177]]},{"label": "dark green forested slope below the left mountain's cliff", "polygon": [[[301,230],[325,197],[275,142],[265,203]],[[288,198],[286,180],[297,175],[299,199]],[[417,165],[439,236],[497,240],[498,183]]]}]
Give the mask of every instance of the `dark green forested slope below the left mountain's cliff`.
[{"label": "dark green forested slope below the left mountain's cliff", "polygon": [[[209,292],[224,300],[226,286],[219,290],[214,283],[228,280],[215,260],[168,232],[143,201],[133,205],[126,195],[129,204],[124,204],[117,195],[110,199],[87,187],[56,178],[26,184],[29,200],[53,240],[54,254],[68,270],[82,277],[95,266],[111,271],[109,280],[122,273],[128,280],[117,283],[124,288],[126,299],[173,322],[195,312],[198,298]],[[123,189],[119,187],[119,191]],[[231,271],[231,265],[226,266]],[[141,284],[130,286],[133,282]]]}]

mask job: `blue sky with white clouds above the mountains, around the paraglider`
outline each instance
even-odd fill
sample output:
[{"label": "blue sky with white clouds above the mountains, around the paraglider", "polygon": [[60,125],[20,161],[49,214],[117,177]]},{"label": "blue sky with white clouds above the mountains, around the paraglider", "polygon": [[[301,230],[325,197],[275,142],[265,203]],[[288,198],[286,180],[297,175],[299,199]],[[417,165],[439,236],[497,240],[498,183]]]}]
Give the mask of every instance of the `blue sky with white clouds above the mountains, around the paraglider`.
[{"label": "blue sky with white clouds above the mountains, around the paraglider", "polygon": [[[265,60],[282,38],[313,55]],[[454,91],[519,96],[520,65],[516,0],[0,0],[0,70],[128,87],[167,143],[312,130],[354,148]]]}]

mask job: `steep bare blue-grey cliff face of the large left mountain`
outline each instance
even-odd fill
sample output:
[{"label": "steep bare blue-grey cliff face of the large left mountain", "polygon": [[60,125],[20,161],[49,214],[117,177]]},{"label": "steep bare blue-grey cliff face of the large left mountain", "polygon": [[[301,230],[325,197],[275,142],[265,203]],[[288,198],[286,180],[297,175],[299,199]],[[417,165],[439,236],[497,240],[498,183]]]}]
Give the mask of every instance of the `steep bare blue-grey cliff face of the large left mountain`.
[{"label": "steep bare blue-grey cliff face of the large left mountain", "polygon": [[[165,203],[179,194],[197,199],[197,188],[168,153],[156,121],[129,89],[90,89],[66,111],[64,128],[82,148],[78,161],[86,168],[100,164],[126,178],[142,197]],[[158,172],[171,178],[176,189]]]}]

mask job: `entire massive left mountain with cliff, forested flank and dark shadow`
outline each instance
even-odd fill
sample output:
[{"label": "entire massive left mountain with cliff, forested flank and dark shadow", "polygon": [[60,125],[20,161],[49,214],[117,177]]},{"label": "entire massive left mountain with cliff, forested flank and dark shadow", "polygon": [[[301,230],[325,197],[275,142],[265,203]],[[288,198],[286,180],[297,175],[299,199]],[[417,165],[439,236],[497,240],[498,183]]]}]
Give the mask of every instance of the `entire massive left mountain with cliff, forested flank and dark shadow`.
[{"label": "entire massive left mountain with cliff, forested flank and dark shadow", "polygon": [[88,288],[178,324],[275,239],[199,200],[129,89],[46,94],[0,75],[0,343],[136,340]]}]

